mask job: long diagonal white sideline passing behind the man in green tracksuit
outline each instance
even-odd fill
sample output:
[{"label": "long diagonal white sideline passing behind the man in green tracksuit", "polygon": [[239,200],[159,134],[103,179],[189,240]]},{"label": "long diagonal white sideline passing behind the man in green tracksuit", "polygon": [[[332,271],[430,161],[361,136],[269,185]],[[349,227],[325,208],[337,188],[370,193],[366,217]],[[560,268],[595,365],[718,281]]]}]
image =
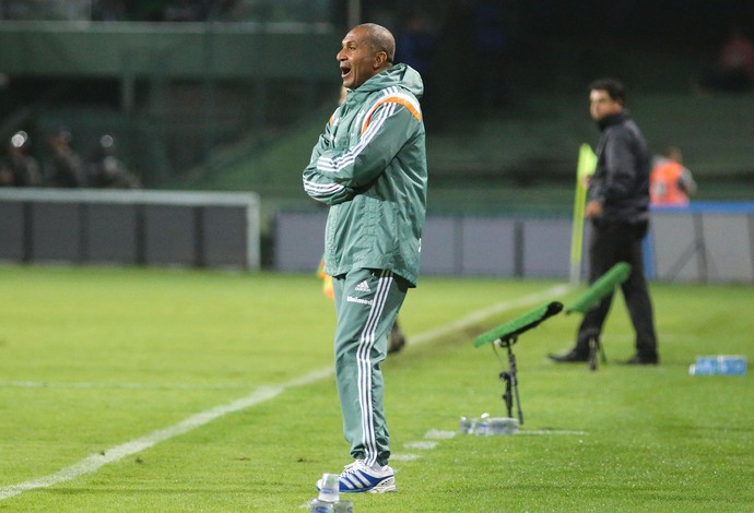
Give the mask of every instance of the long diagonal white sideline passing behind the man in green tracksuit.
[{"label": "long diagonal white sideline passing behind the man in green tracksuit", "polygon": [[[414,335],[411,339],[412,345],[424,344],[428,341],[432,341],[433,338],[439,337],[447,333],[461,330],[468,325],[480,322],[490,315],[494,315],[513,308],[525,307],[541,301],[545,298],[551,298],[553,295],[556,294],[564,294],[569,288],[569,285],[558,285],[543,293],[537,293],[529,296],[523,296],[513,301],[506,301],[494,305],[490,308],[474,312],[446,326],[441,326],[436,330],[431,330],[428,332]],[[274,398],[287,389],[315,383],[319,380],[332,375],[332,368],[321,369],[318,371],[309,372],[308,374],[302,375],[301,378],[291,380],[287,383],[283,383],[278,386],[261,386],[251,395],[241,397],[225,405],[216,406],[205,411],[200,411],[174,426],[170,426],[165,429],[160,429],[157,431],[153,431],[145,437],[131,440],[123,444],[110,448],[106,450],[103,454],[91,454],[85,458],[81,460],[80,462],[74,463],[69,467],[62,468],[56,472],[55,474],[50,474],[38,479],[33,479],[31,481],[20,482],[17,485],[10,485],[0,488],[0,501],[9,499],[11,497],[19,496],[28,490],[34,490],[37,488],[47,488],[50,486],[59,485],[61,482],[70,481],[86,474],[92,474],[101,467],[103,467],[104,465],[107,465],[108,463],[118,462],[127,456],[150,449],[160,442],[164,442],[165,440],[169,440],[174,437],[192,431],[193,429],[204,426],[205,423],[209,423],[227,414],[240,411],[241,409],[246,409],[251,406],[263,403],[266,401],[269,401],[271,398]],[[410,461],[416,457],[419,456],[413,454],[404,454],[402,456],[396,457],[396,460]]]}]

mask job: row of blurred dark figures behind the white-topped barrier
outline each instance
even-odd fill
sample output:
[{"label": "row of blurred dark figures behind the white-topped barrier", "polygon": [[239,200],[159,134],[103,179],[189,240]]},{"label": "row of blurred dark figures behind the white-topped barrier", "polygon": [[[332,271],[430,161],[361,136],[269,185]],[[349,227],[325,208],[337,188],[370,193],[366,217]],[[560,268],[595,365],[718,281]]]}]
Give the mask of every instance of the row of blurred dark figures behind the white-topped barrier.
[{"label": "row of blurred dark figures behind the white-topped barrier", "polygon": [[23,130],[15,132],[0,155],[0,187],[52,187],[137,189],[139,178],[116,155],[115,138],[104,134],[87,157],[72,145],[68,130],[59,130],[47,141],[44,158],[32,153],[32,140]]}]

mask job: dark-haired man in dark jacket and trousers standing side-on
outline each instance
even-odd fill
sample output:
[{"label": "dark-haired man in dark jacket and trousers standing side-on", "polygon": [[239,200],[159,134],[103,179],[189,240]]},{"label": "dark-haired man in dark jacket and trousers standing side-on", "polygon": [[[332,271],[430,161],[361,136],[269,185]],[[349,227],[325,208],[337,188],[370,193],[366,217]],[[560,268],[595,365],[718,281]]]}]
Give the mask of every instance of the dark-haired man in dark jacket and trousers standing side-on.
[{"label": "dark-haired man in dark jacket and trousers standing side-on", "polygon": [[[621,289],[636,332],[636,355],[626,363],[657,365],[652,303],[641,253],[649,225],[651,160],[644,135],[623,108],[624,99],[623,85],[615,80],[603,79],[590,84],[589,111],[602,138],[586,207],[586,217],[591,220],[589,282],[593,283],[618,262],[631,264],[631,275]],[[558,362],[587,361],[589,341],[599,337],[611,302],[612,295],[584,315],[576,346],[570,351],[550,358]]]}]

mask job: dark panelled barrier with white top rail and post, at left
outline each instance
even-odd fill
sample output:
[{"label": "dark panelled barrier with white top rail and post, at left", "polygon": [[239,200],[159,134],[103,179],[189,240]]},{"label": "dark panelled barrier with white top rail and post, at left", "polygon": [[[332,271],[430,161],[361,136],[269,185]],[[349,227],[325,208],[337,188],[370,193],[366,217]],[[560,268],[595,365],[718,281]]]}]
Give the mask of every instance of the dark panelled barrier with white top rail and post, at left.
[{"label": "dark panelled barrier with white top rail and post, at left", "polygon": [[0,190],[0,260],[259,269],[248,193]]}]

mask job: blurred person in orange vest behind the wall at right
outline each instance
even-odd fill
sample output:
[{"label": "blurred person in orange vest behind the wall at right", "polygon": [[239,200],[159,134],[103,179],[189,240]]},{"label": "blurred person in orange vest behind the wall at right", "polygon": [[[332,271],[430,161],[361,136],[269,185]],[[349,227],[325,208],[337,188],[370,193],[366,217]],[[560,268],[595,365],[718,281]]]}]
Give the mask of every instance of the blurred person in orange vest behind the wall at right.
[{"label": "blurred person in orange vest behind the wall at right", "polygon": [[692,172],[683,165],[683,153],[675,146],[665,148],[655,159],[649,176],[649,198],[652,205],[685,206],[696,192]]}]

